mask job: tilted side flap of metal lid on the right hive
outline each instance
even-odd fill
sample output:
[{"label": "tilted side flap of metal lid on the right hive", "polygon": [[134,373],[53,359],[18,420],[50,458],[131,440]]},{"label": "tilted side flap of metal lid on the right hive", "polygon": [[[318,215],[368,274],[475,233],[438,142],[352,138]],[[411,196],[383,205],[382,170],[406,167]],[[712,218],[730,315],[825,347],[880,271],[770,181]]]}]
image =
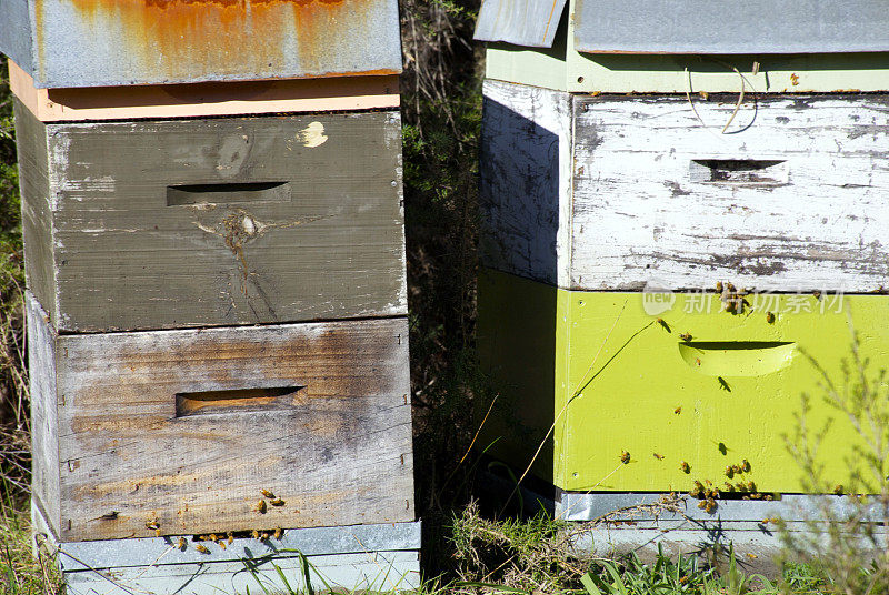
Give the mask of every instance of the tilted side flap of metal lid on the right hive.
[{"label": "tilted side flap of metal lid on the right hive", "polygon": [[551,48],[566,0],[485,0],[475,38]]}]

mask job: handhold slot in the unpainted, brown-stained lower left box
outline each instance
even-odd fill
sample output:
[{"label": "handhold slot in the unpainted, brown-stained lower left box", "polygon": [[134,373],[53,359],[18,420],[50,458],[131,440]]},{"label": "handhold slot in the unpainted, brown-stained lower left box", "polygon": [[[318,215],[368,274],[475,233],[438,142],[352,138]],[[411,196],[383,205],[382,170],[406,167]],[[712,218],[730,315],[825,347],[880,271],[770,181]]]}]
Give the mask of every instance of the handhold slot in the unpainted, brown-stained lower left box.
[{"label": "handhold slot in the unpainted, brown-stained lower left box", "polygon": [[176,416],[234,413],[291,407],[304,386],[236,389],[176,394]]}]

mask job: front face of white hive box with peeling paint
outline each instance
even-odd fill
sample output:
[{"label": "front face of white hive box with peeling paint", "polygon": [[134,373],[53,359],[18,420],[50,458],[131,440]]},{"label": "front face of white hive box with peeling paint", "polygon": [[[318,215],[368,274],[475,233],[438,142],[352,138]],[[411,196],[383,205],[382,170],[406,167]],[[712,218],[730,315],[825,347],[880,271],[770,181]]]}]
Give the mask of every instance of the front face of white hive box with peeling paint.
[{"label": "front face of white hive box with peeling paint", "polygon": [[578,97],[570,288],[889,285],[889,102],[732,100]]}]

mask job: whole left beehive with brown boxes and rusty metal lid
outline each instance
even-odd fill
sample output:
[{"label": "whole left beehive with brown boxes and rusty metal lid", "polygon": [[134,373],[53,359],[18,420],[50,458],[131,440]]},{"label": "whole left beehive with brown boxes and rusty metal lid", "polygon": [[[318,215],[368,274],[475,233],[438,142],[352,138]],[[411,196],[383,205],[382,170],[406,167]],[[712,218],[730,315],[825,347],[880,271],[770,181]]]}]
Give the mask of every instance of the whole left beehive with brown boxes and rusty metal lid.
[{"label": "whole left beehive with brown boxes and rusty metal lid", "polygon": [[397,3],[2,10],[69,589],[416,586]]}]

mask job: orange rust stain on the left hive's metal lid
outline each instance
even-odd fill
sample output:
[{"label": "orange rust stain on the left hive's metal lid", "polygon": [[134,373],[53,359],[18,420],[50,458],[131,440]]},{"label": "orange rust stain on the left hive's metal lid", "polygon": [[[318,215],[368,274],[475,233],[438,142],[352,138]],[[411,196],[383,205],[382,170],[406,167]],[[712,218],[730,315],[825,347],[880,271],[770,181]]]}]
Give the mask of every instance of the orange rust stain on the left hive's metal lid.
[{"label": "orange rust stain on the left hive's metal lid", "polygon": [[[37,46],[41,37],[43,2],[36,0]],[[122,32],[121,52],[138,57],[170,78],[183,72],[214,72],[237,62],[239,70],[284,71],[292,61],[284,49],[296,40],[302,70],[320,75],[332,50],[331,39],[343,29],[360,34],[361,23],[374,9],[373,0],[68,0],[96,31],[109,26]],[[393,71],[361,71],[391,74]],[[317,74],[312,74],[317,75]]]}]

